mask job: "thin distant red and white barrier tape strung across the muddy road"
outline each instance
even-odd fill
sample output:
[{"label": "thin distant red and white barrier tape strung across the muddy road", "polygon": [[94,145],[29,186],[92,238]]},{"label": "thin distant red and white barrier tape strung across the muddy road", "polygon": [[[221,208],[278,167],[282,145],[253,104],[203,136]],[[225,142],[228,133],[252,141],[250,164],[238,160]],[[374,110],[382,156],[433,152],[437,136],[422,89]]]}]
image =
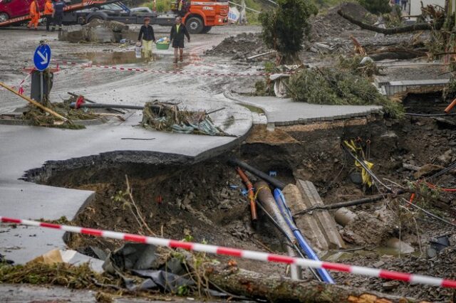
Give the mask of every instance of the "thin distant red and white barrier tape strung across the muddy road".
[{"label": "thin distant red and white barrier tape strung across the muddy road", "polygon": [[[103,68],[110,70],[122,70],[130,72],[142,72],[142,73],[157,73],[157,74],[174,74],[174,75],[202,75],[209,77],[254,77],[254,76],[266,76],[271,75],[271,73],[193,73],[193,72],[182,72],[175,70],[146,70],[144,68],[124,68],[122,66],[109,66],[109,65],[98,65],[98,64],[81,64],[70,61],[59,61],[61,65],[81,65],[85,68]],[[288,74],[294,72],[285,72]]]}]

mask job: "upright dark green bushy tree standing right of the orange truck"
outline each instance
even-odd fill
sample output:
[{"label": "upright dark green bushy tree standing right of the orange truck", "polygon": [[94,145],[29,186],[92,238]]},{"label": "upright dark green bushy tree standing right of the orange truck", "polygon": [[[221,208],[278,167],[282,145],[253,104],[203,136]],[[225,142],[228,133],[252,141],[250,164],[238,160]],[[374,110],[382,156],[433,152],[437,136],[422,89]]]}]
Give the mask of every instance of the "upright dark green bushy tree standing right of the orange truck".
[{"label": "upright dark green bushy tree standing right of the orange truck", "polygon": [[278,8],[260,14],[261,36],[266,46],[278,51],[279,64],[300,63],[298,53],[311,28],[309,17],[318,9],[306,0],[279,0],[277,4]]}]

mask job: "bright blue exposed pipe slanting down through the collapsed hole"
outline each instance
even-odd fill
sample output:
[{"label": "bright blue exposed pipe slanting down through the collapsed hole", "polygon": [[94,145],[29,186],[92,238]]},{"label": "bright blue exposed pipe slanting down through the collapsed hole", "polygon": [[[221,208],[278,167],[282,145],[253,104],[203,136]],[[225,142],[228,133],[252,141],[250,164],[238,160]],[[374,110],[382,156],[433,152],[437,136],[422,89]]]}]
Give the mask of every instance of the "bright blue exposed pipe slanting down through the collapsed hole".
[{"label": "bright blue exposed pipe slanting down through the collapsed hole", "polygon": [[[302,250],[304,250],[306,256],[309,257],[309,259],[311,260],[319,261],[318,255],[316,255],[316,253],[311,248],[309,243],[307,243],[306,239],[304,239],[301,230],[299,230],[299,228],[297,228],[294,224],[294,221],[292,219],[293,217],[291,216],[291,211],[286,205],[284,194],[279,188],[274,189],[274,199],[276,200],[276,204],[279,207],[282,216],[284,216],[286,224],[288,224],[289,228],[293,231],[296,240],[298,240],[299,246]],[[326,282],[328,284],[334,284],[333,277],[331,277],[327,270],[318,269],[316,271],[318,272],[318,275],[320,275],[321,280],[323,280],[323,282]]]}]

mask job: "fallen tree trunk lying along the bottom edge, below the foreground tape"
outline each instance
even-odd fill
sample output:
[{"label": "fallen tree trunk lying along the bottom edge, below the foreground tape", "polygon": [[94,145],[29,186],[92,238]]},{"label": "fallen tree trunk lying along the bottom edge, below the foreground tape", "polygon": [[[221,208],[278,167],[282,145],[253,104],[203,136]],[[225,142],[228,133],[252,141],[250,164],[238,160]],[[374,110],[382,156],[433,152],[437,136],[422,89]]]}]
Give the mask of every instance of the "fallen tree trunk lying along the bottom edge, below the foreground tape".
[{"label": "fallen tree trunk lying along the bottom edge, below the foreground tape", "polygon": [[211,265],[205,272],[209,282],[226,292],[269,302],[416,302],[415,299],[343,285],[266,276],[226,264]]}]

